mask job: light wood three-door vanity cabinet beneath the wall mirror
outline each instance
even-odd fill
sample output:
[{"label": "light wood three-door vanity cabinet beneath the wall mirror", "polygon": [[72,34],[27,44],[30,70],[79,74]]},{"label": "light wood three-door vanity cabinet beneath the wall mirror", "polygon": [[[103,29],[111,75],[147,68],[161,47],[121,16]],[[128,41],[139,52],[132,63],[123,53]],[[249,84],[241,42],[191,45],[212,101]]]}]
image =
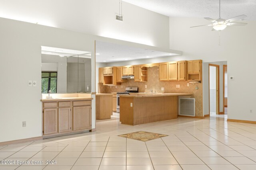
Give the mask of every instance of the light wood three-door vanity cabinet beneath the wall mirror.
[{"label": "light wood three-door vanity cabinet beneath the wall mirror", "polygon": [[[54,102],[51,102],[54,100]],[[92,102],[88,100],[42,100],[43,137],[56,137],[92,129]]]}]

